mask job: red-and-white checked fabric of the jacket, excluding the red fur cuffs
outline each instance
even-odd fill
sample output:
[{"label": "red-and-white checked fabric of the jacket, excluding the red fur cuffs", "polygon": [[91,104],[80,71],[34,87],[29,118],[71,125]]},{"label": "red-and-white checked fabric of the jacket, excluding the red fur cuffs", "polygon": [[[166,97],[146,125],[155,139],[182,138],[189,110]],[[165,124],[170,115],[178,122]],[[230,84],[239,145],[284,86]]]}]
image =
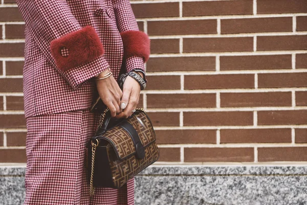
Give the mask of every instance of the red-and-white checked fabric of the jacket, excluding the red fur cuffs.
[{"label": "red-and-white checked fabric of the jacket, excluding the red fur cuffs", "polygon": [[[116,80],[122,63],[126,72],[134,69],[145,72],[142,57],[123,60],[120,32],[139,31],[129,0],[16,0],[16,3],[25,19],[25,117],[90,108],[94,100],[93,77],[108,66]],[[63,72],[56,65],[50,44],[85,26],[95,28],[104,54]],[[68,52],[70,55],[74,51]]]}]

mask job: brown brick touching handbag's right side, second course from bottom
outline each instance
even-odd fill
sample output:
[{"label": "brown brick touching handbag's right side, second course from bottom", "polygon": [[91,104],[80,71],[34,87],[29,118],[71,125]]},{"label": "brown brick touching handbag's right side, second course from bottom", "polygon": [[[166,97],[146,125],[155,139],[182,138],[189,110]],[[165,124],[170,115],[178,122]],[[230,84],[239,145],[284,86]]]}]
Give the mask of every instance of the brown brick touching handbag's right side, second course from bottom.
[{"label": "brown brick touching handbag's right side, second course from bottom", "polygon": [[216,130],[155,130],[158,144],[215,144]]}]

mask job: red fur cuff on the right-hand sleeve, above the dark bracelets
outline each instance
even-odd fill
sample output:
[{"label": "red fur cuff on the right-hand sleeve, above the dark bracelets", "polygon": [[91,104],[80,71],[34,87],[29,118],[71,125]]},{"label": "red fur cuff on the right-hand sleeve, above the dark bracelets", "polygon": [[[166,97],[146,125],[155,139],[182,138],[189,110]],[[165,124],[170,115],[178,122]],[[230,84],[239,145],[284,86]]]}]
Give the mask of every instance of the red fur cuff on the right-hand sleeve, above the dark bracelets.
[{"label": "red fur cuff on the right-hand sleeve, above the dark bracelets", "polygon": [[124,46],[124,58],[130,56],[142,57],[144,63],[150,54],[150,39],[148,35],[142,31],[129,30],[120,33]]}]

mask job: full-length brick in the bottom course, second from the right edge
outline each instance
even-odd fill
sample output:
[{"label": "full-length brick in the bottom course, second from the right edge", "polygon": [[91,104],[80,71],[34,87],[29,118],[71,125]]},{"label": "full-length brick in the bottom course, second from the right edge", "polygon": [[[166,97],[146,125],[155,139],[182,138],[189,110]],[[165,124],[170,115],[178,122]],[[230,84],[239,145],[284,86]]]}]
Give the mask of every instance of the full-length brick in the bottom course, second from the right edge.
[{"label": "full-length brick in the bottom course, second from the right edge", "polygon": [[185,148],[187,162],[254,161],[253,148]]}]

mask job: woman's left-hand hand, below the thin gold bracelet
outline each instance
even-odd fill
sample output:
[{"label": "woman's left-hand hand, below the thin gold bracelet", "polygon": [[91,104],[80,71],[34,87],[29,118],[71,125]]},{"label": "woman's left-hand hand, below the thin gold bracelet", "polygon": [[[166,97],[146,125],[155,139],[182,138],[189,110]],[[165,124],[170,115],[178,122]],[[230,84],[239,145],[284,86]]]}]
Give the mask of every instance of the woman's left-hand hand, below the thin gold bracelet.
[{"label": "woman's left-hand hand, below the thin gold bracelet", "polygon": [[[104,73],[101,73],[100,76],[103,76],[103,75]],[[95,81],[96,81],[97,91],[99,93],[99,96],[102,102],[111,111],[111,116],[115,117],[117,113],[120,113],[123,111],[119,107],[120,99],[123,94],[122,90],[120,89],[113,75],[105,79],[100,79],[100,80],[95,80]]]}]

